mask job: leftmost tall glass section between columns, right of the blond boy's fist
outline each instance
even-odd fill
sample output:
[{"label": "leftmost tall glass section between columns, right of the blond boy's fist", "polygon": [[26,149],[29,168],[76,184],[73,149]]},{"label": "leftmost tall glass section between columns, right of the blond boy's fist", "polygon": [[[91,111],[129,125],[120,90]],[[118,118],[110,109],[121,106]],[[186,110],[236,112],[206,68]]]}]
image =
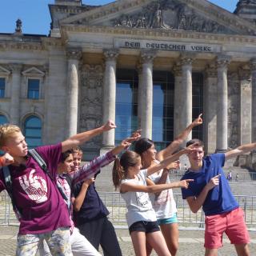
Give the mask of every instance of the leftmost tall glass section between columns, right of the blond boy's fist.
[{"label": "leftmost tall glass section between columns, right of the blond boy's fist", "polygon": [[135,70],[117,70],[115,144],[138,129],[138,74]]}]

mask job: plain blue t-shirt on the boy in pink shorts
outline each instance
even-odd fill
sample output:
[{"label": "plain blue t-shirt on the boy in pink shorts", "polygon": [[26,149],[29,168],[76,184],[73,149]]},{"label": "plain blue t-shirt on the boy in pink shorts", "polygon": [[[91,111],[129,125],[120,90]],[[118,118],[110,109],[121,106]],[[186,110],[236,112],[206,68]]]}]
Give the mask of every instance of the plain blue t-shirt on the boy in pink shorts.
[{"label": "plain blue t-shirt on the boy in pink shorts", "polygon": [[236,202],[222,170],[224,163],[225,154],[211,154],[202,160],[201,170],[197,172],[188,170],[182,177],[182,180],[194,179],[194,182],[190,182],[187,190],[182,189],[182,198],[186,199],[191,196],[198,197],[210,179],[221,174],[219,185],[208,192],[202,205],[202,210],[206,215],[223,214],[238,208],[238,202]]}]

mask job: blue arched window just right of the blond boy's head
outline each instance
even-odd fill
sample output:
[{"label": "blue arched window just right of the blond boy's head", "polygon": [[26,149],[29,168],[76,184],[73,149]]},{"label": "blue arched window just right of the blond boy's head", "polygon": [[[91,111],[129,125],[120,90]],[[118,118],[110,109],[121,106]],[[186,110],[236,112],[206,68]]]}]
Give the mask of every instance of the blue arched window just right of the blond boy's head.
[{"label": "blue arched window just right of the blond boy's head", "polygon": [[34,148],[42,145],[42,121],[40,118],[31,115],[24,122],[24,135],[28,147]]}]

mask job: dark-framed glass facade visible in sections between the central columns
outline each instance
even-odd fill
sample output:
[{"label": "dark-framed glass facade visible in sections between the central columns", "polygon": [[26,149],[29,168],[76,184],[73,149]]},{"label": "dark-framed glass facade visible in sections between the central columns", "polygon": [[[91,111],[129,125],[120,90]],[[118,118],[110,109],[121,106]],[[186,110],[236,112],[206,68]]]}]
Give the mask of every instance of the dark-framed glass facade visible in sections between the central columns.
[{"label": "dark-framed glass facade visible in sections between the central columns", "polygon": [[[203,77],[192,74],[193,120],[203,107]],[[115,143],[138,128],[138,74],[136,70],[117,70]],[[192,138],[202,138],[202,126],[192,131]],[[174,75],[169,71],[153,72],[152,139],[157,150],[174,140]]]}]

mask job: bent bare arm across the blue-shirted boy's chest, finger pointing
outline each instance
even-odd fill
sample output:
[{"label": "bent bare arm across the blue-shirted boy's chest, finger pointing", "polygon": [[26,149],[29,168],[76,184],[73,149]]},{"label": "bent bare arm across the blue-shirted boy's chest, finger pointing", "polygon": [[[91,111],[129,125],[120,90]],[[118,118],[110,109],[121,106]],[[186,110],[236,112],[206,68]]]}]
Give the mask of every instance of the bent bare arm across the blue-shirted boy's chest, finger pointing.
[{"label": "bent bare arm across the blue-shirted boy's chest, finger pointing", "polygon": [[219,184],[219,176],[220,174],[218,174],[217,176],[215,176],[214,178],[210,179],[210,182],[208,182],[206,184],[206,186],[203,188],[203,190],[201,191],[201,193],[198,195],[198,197],[188,197],[186,198],[186,201],[188,202],[189,206],[190,206],[190,210],[196,214],[198,212],[198,210],[202,207],[203,203],[206,200],[207,194],[210,190],[212,190],[214,188],[214,186],[218,186]]}]

